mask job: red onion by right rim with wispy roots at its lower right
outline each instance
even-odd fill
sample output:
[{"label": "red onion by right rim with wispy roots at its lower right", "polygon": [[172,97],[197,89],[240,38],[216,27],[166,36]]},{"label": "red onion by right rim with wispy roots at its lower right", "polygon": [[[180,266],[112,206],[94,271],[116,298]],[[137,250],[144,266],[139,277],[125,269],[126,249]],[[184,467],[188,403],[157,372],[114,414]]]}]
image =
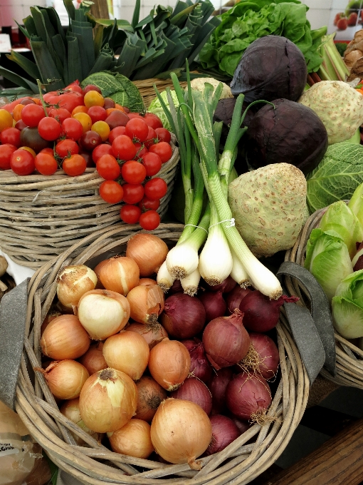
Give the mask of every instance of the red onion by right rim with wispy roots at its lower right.
[{"label": "red onion by right rim with wispy roots at its lower right", "polygon": [[237,417],[262,424],[271,404],[270,387],[263,377],[241,372],[229,382],[226,402]]}]

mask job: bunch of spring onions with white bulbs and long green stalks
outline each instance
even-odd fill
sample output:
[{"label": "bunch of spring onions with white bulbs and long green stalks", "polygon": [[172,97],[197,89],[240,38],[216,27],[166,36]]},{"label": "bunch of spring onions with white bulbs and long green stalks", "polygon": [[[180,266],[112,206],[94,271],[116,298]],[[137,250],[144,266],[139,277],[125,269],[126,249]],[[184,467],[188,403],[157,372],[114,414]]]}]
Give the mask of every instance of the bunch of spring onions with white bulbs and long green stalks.
[{"label": "bunch of spring onions with white bulbs and long green stalks", "polygon": [[[253,285],[270,299],[277,299],[282,295],[280,282],[248,249],[234,225],[227,200],[238,141],[246,131],[241,128],[247,111],[241,116],[244,96],[240,94],[237,98],[231,128],[220,155],[222,123],[214,122],[213,115],[222,84],[213,92],[213,86],[205,83],[201,93],[191,89],[188,68],[187,78],[188,87],[184,91],[172,73],[178,108],[175,108],[169,89],[168,108],[154,86],[179,143],[186,200],[186,225],[177,245],[169,251],[167,260],[160,267],[157,281],[167,291],[174,280],[181,280],[184,292],[194,295],[200,277],[214,286],[231,275],[242,287]],[[209,203],[202,214],[204,190]]]}]

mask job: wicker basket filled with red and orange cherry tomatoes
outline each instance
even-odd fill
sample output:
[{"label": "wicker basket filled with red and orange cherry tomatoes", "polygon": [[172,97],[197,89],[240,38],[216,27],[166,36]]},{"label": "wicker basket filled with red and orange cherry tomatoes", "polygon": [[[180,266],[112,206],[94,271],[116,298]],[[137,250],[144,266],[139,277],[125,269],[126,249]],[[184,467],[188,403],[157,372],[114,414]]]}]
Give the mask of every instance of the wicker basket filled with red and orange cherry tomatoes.
[{"label": "wicker basket filled with red and orange cherry tomatoes", "polygon": [[38,268],[120,222],[154,230],[179,162],[152,113],[130,113],[77,82],[0,109],[0,248]]}]

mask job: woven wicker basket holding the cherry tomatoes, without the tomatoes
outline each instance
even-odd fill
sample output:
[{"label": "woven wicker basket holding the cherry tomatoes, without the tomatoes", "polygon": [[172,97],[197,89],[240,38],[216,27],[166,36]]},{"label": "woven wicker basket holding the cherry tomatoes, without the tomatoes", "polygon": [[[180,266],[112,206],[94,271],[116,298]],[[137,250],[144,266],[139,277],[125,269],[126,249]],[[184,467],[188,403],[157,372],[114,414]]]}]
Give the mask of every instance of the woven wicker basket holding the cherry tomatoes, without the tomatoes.
[{"label": "woven wicker basket holding the cherry tomatoes, without the tomatoes", "polygon": [[[179,148],[172,138],[172,158],[155,175],[168,185],[160,201],[163,216],[172,196]],[[103,179],[95,168],[79,177],[63,170],[54,175],[18,176],[0,172],[0,249],[19,265],[38,269],[77,240],[120,222],[122,204],[107,204],[98,188]]]}]

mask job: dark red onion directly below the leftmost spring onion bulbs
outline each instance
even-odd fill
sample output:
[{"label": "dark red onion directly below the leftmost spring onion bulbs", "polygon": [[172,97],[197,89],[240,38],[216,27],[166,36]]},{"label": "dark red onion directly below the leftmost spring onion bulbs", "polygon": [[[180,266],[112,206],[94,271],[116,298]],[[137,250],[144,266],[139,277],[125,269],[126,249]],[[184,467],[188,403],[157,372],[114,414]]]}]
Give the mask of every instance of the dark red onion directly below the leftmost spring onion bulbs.
[{"label": "dark red onion directly below the leftmost spring onion bulbs", "polygon": [[165,300],[160,319],[168,335],[177,339],[190,339],[203,330],[206,310],[198,298],[176,293]]}]

